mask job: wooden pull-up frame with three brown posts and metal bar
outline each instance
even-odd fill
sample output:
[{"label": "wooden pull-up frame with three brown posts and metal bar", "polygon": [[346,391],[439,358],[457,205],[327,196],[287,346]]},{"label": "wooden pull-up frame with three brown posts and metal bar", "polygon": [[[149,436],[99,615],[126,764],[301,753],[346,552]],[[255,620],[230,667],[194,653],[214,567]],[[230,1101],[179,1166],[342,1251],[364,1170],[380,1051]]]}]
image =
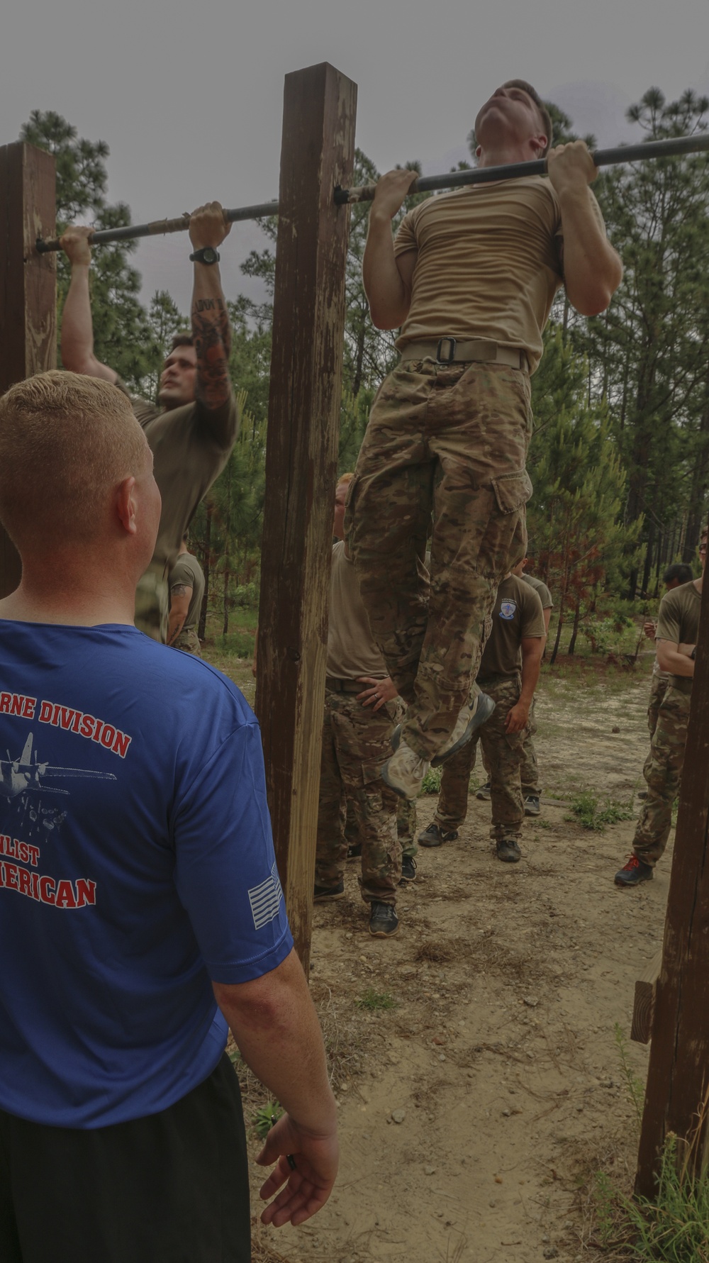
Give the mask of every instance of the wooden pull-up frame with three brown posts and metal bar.
[{"label": "wooden pull-up frame with three brown posts and metal bar", "polygon": [[[356,87],[331,66],[286,77],[259,611],[259,715],[276,853],[297,950],[308,966],[327,577],[345,320],[348,202]],[[672,141],[675,144],[675,141]],[[609,150],[608,162],[666,157]],[[701,148],[693,139],[675,150]],[[600,159],[600,155],[598,155]],[[526,164],[531,167],[532,164]],[[519,172],[526,174],[527,172]],[[488,173],[492,178],[493,172]],[[507,172],[509,176],[511,172]],[[465,173],[465,183],[478,176]],[[450,187],[449,177],[426,178]],[[423,186],[423,182],[421,182]],[[336,189],[342,193],[335,196]],[[345,193],[345,189],[348,192]],[[270,213],[273,203],[244,207]],[[236,213],[234,217],[251,217]],[[185,226],[176,221],[173,231]],[[159,224],[147,225],[159,232]],[[148,232],[149,230],[149,232]],[[54,163],[27,144],[0,149],[0,392],[54,365]],[[37,239],[48,249],[37,250]],[[19,576],[0,536],[0,596]],[[652,1018],[636,1188],[652,1196],[669,1130],[696,1133],[704,1161],[709,1085],[709,586],[698,648],[685,773]]]}]

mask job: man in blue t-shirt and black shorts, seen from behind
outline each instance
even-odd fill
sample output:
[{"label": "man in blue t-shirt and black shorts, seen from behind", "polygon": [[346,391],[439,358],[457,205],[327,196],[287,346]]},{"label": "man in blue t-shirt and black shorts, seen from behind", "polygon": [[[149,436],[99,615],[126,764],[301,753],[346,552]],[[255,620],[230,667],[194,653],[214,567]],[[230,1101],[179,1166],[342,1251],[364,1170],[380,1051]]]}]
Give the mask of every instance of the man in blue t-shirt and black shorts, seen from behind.
[{"label": "man in blue t-shirt and black shorts, seen from behind", "polygon": [[257,720],[133,625],[159,515],[115,386],[47,373],[0,400],[23,561],[0,601],[3,1263],[250,1259],[227,1026],[287,1111],[264,1220],[303,1223],[335,1180]]}]

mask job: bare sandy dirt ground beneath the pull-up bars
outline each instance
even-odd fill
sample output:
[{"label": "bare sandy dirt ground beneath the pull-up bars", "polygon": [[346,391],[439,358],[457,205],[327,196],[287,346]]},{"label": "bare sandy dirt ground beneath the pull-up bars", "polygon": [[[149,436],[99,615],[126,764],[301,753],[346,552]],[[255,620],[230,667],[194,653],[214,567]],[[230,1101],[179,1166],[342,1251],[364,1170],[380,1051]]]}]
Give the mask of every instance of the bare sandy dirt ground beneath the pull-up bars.
[{"label": "bare sandy dirt ground beneath the pull-up bars", "polygon": [[[542,677],[542,815],[526,823],[519,864],[497,860],[489,803],[471,796],[458,841],[420,850],[396,940],[369,936],[356,861],[345,902],[316,908],[311,983],[340,1108],[340,1178],[308,1224],[259,1231],[255,1257],[599,1257],[593,1173],[619,1170],[629,1187],[637,1144],[614,1026],[629,1034],[634,979],[661,943],[670,864],[618,890],[633,822],[593,832],[564,799],[593,789],[637,805],[651,661],[633,674]],[[433,807],[418,801],[420,825]],[[396,1007],[358,1007],[372,990]],[[645,1079],[647,1050],[628,1055]]]}]

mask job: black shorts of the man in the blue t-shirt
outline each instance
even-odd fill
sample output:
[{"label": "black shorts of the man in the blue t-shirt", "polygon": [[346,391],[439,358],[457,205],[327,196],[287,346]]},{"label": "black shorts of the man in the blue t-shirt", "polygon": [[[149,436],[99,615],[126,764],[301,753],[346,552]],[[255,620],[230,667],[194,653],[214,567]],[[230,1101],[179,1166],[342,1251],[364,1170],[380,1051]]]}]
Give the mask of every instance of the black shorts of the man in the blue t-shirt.
[{"label": "black shorts of the man in the blue t-shirt", "polygon": [[1,1263],[249,1263],[241,1096],[225,1055],[159,1114],[95,1130],[0,1110]]}]

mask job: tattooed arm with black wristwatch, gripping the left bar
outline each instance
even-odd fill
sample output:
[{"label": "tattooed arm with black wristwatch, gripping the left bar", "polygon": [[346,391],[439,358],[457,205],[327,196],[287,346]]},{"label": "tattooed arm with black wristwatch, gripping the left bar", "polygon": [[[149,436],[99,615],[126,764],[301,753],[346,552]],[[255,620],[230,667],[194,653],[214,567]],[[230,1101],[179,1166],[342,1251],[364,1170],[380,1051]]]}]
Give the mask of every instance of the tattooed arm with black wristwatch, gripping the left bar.
[{"label": "tattooed arm with black wristwatch, gripping the left bar", "polygon": [[[195,250],[216,249],[230,229],[220,203],[207,202],[190,218],[190,240]],[[233,399],[229,379],[231,330],[217,263],[195,263],[192,337],[197,352],[196,398],[202,404],[202,416],[206,413],[214,441],[226,448],[234,442],[233,409],[225,407]]]}]

